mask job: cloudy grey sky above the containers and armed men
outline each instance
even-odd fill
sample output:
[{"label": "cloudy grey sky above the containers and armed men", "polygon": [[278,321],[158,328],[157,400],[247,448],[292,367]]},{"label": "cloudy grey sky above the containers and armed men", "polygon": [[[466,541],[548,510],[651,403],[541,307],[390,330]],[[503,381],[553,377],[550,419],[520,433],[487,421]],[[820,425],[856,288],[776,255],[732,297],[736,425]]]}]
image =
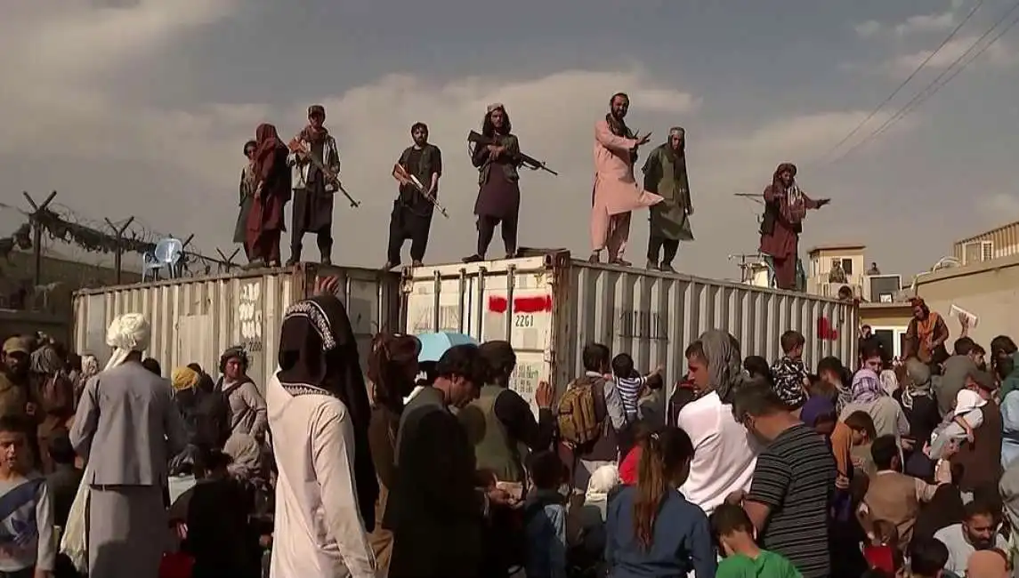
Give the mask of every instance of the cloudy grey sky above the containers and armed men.
[{"label": "cloudy grey sky above the containers and armed men", "polygon": [[[804,252],[860,242],[886,273],[913,273],[953,240],[1019,218],[1019,31],[843,153],[1012,0],[982,2],[888,107],[832,150],[975,1],[585,0],[578,9],[539,0],[0,0],[0,201],[57,189],[87,218],[135,215],[152,229],[195,233],[214,254],[230,243],[244,141],[263,121],[290,135],[307,106],[322,103],[344,182],[364,201],[356,211],[336,204],[334,259],[385,261],[389,172],[420,120],[443,150],[451,213],[436,217],[428,259],[454,261],[475,238],[465,135],[497,101],[525,152],[560,173],[523,175],[521,244],[586,255],[592,126],[609,95],[625,91],[631,126],[653,140],[687,128],[697,241],[682,249],[681,269],[737,275],[727,256],[756,250],[759,208],[734,193],[760,192],[775,165],[792,161],[808,193],[834,199],[811,215]],[[0,214],[0,233],[20,220]],[[635,263],[646,233],[639,215]],[[306,246],[316,256],[312,238]]]}]

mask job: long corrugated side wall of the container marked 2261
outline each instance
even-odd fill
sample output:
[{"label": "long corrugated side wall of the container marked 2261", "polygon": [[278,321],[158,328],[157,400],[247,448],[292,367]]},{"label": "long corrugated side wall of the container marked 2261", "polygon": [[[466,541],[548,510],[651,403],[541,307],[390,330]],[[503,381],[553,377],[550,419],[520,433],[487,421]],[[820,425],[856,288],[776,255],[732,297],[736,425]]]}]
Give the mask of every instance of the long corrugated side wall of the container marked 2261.
[{"label": "long corrugated side wall of the container marked 2261", "polygon": [[[816,365],[835,355],[854,359],[857,309],[830,299],[773,291],[723,281],[573,262],[569,289],[557,301],[557,357],[569,362],[562,377],[582,369],[581,351],[603,343],[612,353],[629,353],[638,367],[664,365],[666,383],[685,372],[684,351],[710,329],[726,330],[740,341],[744,357],[769,361],[782,356],[779,338],[796,330],[807,344],[804,362]],[[593,305],[592,305],[593,304]],[[566,308],[566,311],[562,308]],[[564,314],[565,313],[565,314]]]}]

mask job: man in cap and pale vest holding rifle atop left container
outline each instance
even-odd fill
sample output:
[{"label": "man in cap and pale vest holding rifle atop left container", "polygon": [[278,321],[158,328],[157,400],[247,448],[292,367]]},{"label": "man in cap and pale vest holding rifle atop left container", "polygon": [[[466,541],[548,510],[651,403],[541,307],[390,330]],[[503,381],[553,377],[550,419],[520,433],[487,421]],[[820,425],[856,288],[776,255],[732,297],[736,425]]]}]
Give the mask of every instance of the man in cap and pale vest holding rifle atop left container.
[{"label": "man in cap and pale vest holding rifle atop left container", "polygon": [[[312,152],[333,174],[339,174],[339,152],[336,139],[323,126],[325,107],[308,107],[308,126],[296,139]],[[322,174],[322,170],[302,152],[292,152],[286,159],[291,167],[293,187],[293,213],[290,223],[290,258],[286,265],[301,261],[301,247],[305,233],[315,233],[322,265],[332,263],[332,199],[336,184]]]}]

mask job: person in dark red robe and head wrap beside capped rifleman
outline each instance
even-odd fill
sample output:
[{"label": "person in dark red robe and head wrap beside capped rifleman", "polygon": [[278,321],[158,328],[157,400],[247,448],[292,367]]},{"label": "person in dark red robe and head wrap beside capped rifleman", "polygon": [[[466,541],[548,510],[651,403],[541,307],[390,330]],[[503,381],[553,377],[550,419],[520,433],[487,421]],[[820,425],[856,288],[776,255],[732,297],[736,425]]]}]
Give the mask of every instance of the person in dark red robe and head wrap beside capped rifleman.
[{"label": "person in dark red robe and head wrap beside capped rifleman", "polygon": [[248,247],[250,267],[279,267],[279,237],[283,225],[283,206],[290,198],[290,169],[286,166],[287,150],[271,124],[260,124],[255,132],[258,147],[253,160],[255,194],[248,214]]}]

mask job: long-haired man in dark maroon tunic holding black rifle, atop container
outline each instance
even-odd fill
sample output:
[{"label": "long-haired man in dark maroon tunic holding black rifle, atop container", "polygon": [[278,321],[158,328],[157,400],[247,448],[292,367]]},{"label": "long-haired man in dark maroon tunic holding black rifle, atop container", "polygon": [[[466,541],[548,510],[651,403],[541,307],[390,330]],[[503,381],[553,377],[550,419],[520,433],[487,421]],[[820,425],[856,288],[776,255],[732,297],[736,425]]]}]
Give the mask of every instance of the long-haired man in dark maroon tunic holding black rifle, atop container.
[{"label": "long-haired man in dark maroon tunic holding black rifle, atop container", "polygon": [[501,104],[488,105],[481,133],[496,143],[478,146],[471,162],[478,169],[478,199],[474,214],[478,217],[478,247],[464,263],[485,259],[495,226],[502,227],[502,244],[506,258],[517,255],[517,223],[520,217],[520,141],[511,132],[509,115]]}]

